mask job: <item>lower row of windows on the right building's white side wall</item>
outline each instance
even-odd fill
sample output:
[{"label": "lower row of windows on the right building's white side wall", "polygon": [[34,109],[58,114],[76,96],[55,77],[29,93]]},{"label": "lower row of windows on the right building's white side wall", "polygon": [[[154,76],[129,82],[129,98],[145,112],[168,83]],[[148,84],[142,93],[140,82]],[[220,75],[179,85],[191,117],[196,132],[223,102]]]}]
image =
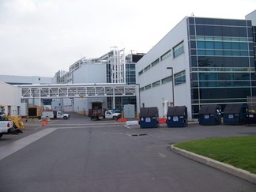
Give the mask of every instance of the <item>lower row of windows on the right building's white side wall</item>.
[{"label": "lower row of windows on the right building's white side wall", "polygon": [[[180,85],[180,84],[183,84],[183,83],[186,83],[186,73],[185,73],[185,70],[179,72],[179,73],[176,73],[174,75],[175,77],[175,85]],[[149,88],[154,88],[154,87],[157,87],[159,85],[164,85],[168,82],[172,81],[172,76],[169,76],[169,77],[165,77],[164,79],[161,79],[159,81],[155,81],[153,82],[152,84],[149,84],[149,85],[146,85],[145,87],[142,87],[140,88],[140,91],[145,91]]]}]

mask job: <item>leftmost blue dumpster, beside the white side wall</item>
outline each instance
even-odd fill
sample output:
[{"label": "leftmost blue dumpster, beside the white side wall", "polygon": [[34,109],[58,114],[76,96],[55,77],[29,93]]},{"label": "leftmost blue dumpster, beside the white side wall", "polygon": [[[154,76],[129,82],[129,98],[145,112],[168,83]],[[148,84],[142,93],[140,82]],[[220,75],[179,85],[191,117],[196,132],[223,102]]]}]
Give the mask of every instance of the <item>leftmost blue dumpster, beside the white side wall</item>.
[{"label": "leftmost blue dumpster, beside the white side wall", "polygon": [[157,107],[142,107],[140,110],[141,128],[156,128],[159,126]]}]

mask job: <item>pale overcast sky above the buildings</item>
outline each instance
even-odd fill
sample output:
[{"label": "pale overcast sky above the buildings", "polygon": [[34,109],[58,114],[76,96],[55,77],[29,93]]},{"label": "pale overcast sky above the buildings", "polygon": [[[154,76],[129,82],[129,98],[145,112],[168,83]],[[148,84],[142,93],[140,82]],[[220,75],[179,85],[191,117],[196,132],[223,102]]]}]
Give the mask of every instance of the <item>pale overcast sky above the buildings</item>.
[{"label": "pale overcast sky above the buildings", "polygon": [[148,52],[184,17],[244,19],[255,0],[0,0],[0,74],[54,77],[111,47]]}]

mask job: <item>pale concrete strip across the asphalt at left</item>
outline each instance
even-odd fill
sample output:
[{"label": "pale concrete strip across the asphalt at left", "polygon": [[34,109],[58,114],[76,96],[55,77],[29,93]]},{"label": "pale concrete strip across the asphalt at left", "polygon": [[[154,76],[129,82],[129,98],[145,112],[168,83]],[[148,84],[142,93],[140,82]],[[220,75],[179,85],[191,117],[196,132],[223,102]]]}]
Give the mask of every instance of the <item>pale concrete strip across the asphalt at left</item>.
[{"label": "pale concrete strip across the asphalt at left", "polygon": [[17,152],[18,150],[24,148],[25,146],[31,144],[39,140],[40,138],[46,136],[47,134],[51,134],[51,132],[57,130],[56,128],[47,128],[45,130],[41,130],[35,134],[28,135],[27,137],[23,137],[17,141],[13,141],[10,144],[0,146],[0,160],[6,158],[13,154],[13,152]]}]

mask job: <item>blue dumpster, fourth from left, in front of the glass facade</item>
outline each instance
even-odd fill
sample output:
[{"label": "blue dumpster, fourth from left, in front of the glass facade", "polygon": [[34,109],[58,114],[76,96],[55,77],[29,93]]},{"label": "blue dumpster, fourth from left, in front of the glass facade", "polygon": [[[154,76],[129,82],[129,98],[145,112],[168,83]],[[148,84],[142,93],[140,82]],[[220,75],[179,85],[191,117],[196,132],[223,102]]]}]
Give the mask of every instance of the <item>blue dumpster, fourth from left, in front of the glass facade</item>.
[{"label": "blue dumpster, fourth from left, in front of the glass facade", "polygon": [[225,125],[242,125],[246,123],[247,104],[227,104],[223,111]]}]

